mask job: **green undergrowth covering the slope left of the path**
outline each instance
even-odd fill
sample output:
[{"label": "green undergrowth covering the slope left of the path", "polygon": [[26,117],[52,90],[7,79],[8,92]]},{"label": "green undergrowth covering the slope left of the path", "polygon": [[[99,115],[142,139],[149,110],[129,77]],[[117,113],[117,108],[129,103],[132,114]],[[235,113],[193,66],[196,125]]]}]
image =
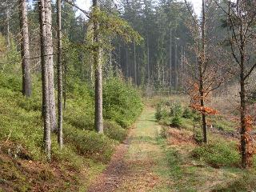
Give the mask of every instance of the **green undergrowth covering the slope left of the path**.
[{"label": "green undergrowth covering the slope left of the path", "polygon": [[[41,80],[33,78],[30,98],[22,96],[21,82],[17,75],[0,75],[0,143],[8,139],[14,150],[22,146],[30,159],[45,161]],[[120,125],[129,126],[134,122],[142,110],[141,99],[133,86],[119,79],[105,84],[107,90],[104,113],[106,116],[110,114],[110,120],[104,122],[106,135],[91,131],[94,130],[94,90],[77,80],[68,86],[66,109],[63,113],[65,144],[62,151],[58,150],[57,136],[52,134],[54,160],[65,161],[77,167],[82,165],[81,158],[107,162],[117,141],[121,142],[126,138],[126,130]],[[115,89],[116,85],[120,87]]]}]

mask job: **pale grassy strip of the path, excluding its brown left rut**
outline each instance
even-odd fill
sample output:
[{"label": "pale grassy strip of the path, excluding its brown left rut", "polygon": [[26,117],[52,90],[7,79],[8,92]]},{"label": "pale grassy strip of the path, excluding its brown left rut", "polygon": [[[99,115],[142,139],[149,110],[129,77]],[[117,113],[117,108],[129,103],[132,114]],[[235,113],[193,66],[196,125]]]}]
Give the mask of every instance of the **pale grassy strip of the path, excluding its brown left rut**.
[{"label": "pale grassy strip of the path, excluding its brown left rut", "polygon": [[129,167],[121,191],[170,191],[170,174],[161,142],[161,126],[154,109],[146,106],[130,133],[130,147],[124,162]]}]

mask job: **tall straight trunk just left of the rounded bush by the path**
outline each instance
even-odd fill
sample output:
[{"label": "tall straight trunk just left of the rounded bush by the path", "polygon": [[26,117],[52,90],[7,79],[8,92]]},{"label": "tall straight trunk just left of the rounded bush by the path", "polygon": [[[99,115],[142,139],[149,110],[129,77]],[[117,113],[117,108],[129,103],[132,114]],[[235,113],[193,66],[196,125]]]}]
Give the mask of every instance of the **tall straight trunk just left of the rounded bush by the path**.
[{"label": "tall straight trunk just left of the rounded bush by the path", "polygon": [[[94,11],[99,10],[98,0],[93,0]],[[94,18],[94,43],[99,44],[99,23],[98,18]],[[96,46],[94,50],[94,70],[95,70],[95,129],[98,133],[103,133],[103,109],[102,109],[102,50]]]}]

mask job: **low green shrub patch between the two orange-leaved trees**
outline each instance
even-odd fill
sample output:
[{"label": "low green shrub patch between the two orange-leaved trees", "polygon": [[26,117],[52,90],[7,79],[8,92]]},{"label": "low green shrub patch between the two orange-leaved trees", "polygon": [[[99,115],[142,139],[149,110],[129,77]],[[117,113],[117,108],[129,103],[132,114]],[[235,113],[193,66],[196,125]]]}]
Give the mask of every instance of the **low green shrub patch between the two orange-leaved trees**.
[{"label": "low green shrub patch between the two orange-leaved trees", "polygon": [[225,140],[216,140],[210,144],[197,146],[192,151],[192,157],[202,160],[216,168],[222,166],[238,166],[240,159],[235,142],[227,142]]}]

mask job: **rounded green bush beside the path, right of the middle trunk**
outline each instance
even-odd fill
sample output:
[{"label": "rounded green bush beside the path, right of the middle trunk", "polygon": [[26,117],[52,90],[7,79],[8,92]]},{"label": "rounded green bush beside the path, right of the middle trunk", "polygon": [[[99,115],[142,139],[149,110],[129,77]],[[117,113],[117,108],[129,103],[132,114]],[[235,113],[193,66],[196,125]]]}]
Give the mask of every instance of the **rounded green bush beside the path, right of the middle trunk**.
[{"label": "rounded green bush beside the path, right of the middle trunk", "polygon": [[142,100],[137,90],[121,78],[109,78],[103,84],[103,116],[129,127],[142,112]]}]

